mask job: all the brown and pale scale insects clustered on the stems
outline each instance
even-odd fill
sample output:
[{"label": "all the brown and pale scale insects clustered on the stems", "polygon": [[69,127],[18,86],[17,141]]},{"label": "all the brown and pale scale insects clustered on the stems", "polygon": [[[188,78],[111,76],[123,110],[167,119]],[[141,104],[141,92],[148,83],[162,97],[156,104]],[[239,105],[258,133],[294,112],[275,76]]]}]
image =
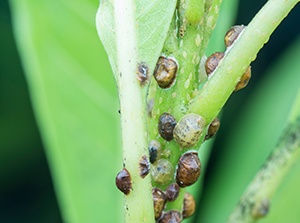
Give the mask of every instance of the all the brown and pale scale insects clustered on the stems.
[{"label": "all the brown and pale scale insects clustered on the stems", "polygon": [[[244,26],[233,26],[225,35],[225,45],[227,49],[231,47]],[[209,56],[205,63],[205,71],[210,78],[217,68],[220,60],[224,57],[223,52],[216,52]],[[172,58],[160,56],[156,68],[154,70],[154,78],[160,88],[170,88],[174,85],[178,70],[178,65]],[[148,67],[144,63],[138,66],[138,79],[141,85],[148,81]],[[240,90],[248,84],[251,77],[251,67],[237,83],[235,90]],[[205,129],[206,121],[198,114],[186,114],[178,122],[170,113],[162,113],[158,119],[157,128],[159,135],[166,141],[175,140],[180,148],[191,148],[195,146]],[[215,118],[209,124],[205,140],[213,137],[220,127],[220,121]],[[174,168],[172,164],[164,158],[160,157],[162,153],[161,145],[157,140],[151,140],[148,145],[149,160],[147,156],[143,156],[139,160],[140,177],[144,178],[150,172],[152,180],[160,185],[165,185],[173,181],[166,187],[165,191],[154,187],[152,189],[154,216],[158,223],[181,222],[182,219],[190,217],[196,209],[193,196],[185,193],[182,212],[177,210],[164,211],[167,202],[173,202],[177,199],[180,188],[193,185],[199,178],[201,173],[201,162],[196,151],[187,151],[182,154],[178,160],[176,174],[174,180]],[[175,182],[174,182],[175,181]],[[125,195],[132,190],[132,182],[130,173],[124,167],[116,177],[116,185]]]}]

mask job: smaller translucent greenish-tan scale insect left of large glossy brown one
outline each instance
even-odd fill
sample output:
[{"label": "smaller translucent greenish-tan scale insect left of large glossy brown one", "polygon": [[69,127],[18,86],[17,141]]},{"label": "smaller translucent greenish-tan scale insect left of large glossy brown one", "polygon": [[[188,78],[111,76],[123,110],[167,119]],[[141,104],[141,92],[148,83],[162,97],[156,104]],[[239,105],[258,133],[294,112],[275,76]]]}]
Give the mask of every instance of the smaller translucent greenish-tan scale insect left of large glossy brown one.
[{"label": "smaller translucent greenish-tan scale insect left of large glossy brown one", "polygon": [[152,179],[158,184],[168,184],[174,176],[174,167],[166,159],[158,160],[151,167]]}]

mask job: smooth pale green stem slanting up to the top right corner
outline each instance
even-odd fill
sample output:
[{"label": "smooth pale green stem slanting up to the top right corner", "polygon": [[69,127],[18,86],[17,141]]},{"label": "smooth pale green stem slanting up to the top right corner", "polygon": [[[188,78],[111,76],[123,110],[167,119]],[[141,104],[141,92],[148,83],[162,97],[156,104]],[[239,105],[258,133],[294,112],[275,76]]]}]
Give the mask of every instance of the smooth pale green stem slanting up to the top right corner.
[{"label": "smooth pale green stem slanting up to the top right corner", "polygon": [[245,28],[212,78],[191,101],[189,111],[210,123],[220,112],[235,85],[270,35],[299,0],[270,0]]}]

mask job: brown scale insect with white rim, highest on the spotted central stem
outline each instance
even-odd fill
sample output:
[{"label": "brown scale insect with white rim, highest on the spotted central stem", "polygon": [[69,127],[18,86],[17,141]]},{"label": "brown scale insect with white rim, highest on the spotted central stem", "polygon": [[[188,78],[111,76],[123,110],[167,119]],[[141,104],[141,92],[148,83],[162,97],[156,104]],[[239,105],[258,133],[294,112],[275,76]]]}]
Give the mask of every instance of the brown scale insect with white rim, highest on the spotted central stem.
[{"label": "brown scale insect with white rim, highest on the spotted central stem", "polygon": [[169,88],[173,85],[177,75],[177,62],[170,58],[160,56],[154,70],[154,78],[160,88]]}]

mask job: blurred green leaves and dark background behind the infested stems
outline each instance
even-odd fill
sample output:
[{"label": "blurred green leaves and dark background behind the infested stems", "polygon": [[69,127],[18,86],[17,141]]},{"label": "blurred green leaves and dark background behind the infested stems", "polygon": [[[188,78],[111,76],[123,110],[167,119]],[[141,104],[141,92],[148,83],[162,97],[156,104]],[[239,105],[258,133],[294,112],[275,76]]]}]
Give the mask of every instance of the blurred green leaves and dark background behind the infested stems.
[{"label": "blurred green leaves and dark background behind the infested stems", "polygon": [[[241,1],[236,23],[247,24],[263,3]],[[72,223],[122,222],[122,195],[114,185],[122,167],[118,100],[95,28],[97,8],[98,0],[11,0],[14,34],[55,190],[63,218]],[[18,56],[13,54],[10,20],[7,10],[0,9],[0,221],[59,222]],[[249,86],[225,106],[205,167],[197,222],[224,222],[285,126],[300,83],[300,44],[294,41],[299,38],[299,10],[298,5],[253,62]],[[209,53],[222,49],[222,32],[217,32],[218,46],[210,45]],[[299,171],[295,166],[284,181],[265,222],[299,219]]]}]

